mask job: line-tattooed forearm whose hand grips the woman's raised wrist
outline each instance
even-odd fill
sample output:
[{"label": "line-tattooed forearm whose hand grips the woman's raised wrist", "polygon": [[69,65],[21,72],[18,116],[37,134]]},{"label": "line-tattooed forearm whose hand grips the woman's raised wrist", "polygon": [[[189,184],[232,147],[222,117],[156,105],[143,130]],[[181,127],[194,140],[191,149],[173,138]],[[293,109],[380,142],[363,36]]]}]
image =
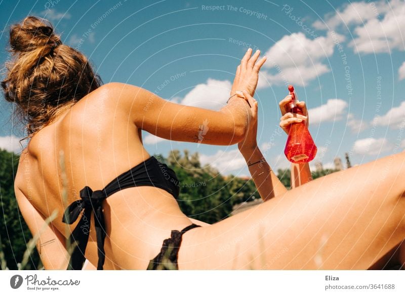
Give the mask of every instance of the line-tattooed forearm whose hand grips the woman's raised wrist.
[{"label": "line-tattooed forearm whose hand grips the woman's raised wrist", "polygon": [[287,189],[274,174],[257,146],[257,101],[247,92],[244,92],[244,95],[253,105],[252,120],[249,122],[249,129],[245,138],[238,143],[238,149],[248,164],[249,172],[260,197],[263,201],[267,201],[284,194]]}]

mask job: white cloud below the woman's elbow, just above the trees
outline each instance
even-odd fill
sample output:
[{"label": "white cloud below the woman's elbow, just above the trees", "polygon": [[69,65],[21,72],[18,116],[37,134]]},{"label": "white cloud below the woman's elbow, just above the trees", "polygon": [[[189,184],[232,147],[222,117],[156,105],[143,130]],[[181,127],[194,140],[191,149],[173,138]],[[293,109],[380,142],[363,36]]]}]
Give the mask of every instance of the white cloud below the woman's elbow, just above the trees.
[{"label": "white cloud below the woman's elbow, just above the trees", "polygon": [[215,155],[211,156],[200,154],[199,160],[201,165],[211,165],[223,175],[230,174],[232,171],[240,170],[246,166],[246,161],[239,150],[219,150]]}]

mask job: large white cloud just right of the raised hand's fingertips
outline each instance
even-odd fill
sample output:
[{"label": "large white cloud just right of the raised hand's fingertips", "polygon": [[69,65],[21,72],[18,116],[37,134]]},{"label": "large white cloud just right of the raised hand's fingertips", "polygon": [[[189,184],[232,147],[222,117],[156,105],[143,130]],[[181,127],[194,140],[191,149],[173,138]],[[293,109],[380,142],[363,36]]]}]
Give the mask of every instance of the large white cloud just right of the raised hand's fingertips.
[{"label": "large white cloud just right of the raised hand's fingertips", "polygon": [[273,72],[261,71],[258,88],[283,84],[305,86],[329,72],[322,61],[333,54],[335,40],[341,42],[344,37],[337,33],[315,39],[307,38],[302,32],[285,35],[266,52],[263,68]]}]

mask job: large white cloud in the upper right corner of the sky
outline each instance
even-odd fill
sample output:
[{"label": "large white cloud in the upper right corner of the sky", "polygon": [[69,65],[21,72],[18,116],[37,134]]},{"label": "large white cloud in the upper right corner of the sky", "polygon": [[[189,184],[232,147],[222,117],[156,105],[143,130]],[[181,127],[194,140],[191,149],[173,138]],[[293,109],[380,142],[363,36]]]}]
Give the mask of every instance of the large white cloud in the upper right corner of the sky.
[{"label": "large white cloud in the upper right corner of the sky", "polygon": [[325,16],[325,23],[316,21],[318,29],[352,26],[354,39],[349,43],[355,52],[381,53],[404,50],[405,2],[403,0],[354,2],[336,13]]}]

